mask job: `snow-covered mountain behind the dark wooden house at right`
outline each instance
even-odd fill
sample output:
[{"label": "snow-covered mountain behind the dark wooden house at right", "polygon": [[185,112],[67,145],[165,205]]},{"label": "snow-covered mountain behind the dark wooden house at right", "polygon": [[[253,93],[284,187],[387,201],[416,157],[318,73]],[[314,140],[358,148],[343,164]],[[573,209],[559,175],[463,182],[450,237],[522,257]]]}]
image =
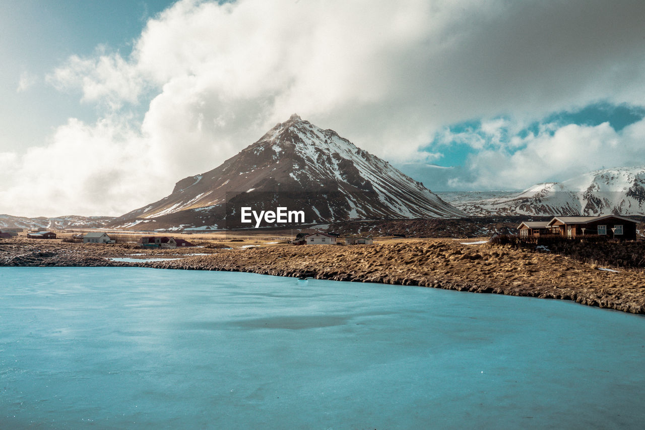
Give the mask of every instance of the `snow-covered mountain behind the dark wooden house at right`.
[{"label": "snow-covered mountain behind the dark wooden house at right", "polygon": [[645,166],[594,170],[490,198],[471,193],[444,198],[471,215],[645,215]]}]

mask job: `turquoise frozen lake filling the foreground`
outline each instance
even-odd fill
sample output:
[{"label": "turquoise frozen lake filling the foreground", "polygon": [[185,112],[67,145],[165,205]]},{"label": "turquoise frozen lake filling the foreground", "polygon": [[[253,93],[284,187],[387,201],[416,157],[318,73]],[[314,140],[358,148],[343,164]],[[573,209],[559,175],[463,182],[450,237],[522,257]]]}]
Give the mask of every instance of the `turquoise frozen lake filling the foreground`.
[{"label": "turquoise frozen lake filling the foreground", "polygon": [[421,287],[0,268],[0,428],[642,428],[645,318]]}]

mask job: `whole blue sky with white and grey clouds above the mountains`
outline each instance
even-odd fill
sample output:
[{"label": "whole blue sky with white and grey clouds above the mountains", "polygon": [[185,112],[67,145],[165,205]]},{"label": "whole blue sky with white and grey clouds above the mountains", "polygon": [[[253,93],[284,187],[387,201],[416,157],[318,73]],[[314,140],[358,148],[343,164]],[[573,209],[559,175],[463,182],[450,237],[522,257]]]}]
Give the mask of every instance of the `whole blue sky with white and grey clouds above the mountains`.
[{"label": "whole blue sky with white and grey clouds above the mountains", "polygon": [[642,0],[0,6],[0,213],[124,214],[293,113],[433,191],[645,165]]}]

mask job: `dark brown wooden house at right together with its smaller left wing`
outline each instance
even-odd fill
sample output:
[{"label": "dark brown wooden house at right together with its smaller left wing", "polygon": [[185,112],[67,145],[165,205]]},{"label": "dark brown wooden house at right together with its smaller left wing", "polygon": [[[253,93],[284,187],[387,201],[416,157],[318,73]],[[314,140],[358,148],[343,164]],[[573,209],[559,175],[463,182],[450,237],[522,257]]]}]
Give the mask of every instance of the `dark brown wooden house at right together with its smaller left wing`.
[{"label": "dark brown wooden house at right together with its smaller left wing", "polygon": [[524,221],[517,229],[521,238],[555,235],[570,239],[600,236],[636,240],[636,221],[618,215],[555,216],[551,221]]}]

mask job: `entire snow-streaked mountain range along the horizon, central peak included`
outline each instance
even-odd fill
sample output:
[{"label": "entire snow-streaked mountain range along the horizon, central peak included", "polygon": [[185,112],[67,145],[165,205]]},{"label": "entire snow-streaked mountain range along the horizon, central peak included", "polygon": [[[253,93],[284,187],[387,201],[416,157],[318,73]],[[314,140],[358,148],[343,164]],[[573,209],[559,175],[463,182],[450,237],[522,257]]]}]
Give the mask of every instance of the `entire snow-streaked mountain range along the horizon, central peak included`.
[{"label": "entire snow-streaked mountain range along the horizon, central peak included", "polygon": [[252,227],[239,223],[239,210],[247,206],[304,210],[308,224],[461,216],[645,216],[645,166],[595,170],[522,192],[437,194],[335,131],[293,115],[219,167],[181,179],[167,197],[123,216],[0,215],[0,230]]}]

